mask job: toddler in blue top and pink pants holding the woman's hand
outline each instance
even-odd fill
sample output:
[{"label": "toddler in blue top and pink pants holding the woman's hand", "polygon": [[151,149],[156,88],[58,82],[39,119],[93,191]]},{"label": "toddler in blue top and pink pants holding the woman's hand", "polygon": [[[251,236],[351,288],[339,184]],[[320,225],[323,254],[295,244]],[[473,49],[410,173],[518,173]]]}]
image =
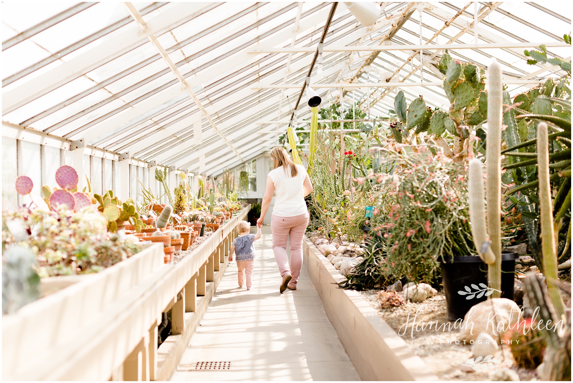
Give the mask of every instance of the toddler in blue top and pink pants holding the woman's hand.
[{"label": "toddler in blue top and pink pants holding the woman's hand", "polygon": [[251,288],[251,281],[253,277],[254,266],[254,245],[253,242],[261,238],[261,228],[257,226],[257,234],[249,234],[250,223],[240,221],[237,224],[237,231],[239,236],[233,241],[231,251],[229,253],[229,261],[233,260],[233,254],[237,254],[237,269],[239,270],[237,277],[239,287],[243,287],[243,273],[246,274],[247,290]]}]

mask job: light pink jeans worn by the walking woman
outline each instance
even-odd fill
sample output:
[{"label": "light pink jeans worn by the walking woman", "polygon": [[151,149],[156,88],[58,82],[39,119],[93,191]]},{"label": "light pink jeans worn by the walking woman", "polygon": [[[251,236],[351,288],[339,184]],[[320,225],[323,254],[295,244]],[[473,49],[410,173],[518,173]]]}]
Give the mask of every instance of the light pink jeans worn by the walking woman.
[{"label": "light pink jeans worn by the walking woman", "polygon": [[[296,286],[299,279],[300,268],[303,266],[303,236],[308,226],[308,214],[292,217],[272,215],[270,218],[270,231],[273,233],[273,252],[277,260],[281,277],[291,274],[289,285]],[[291,266],[289,267],[286,255],[286,239],[291,247]]]}]

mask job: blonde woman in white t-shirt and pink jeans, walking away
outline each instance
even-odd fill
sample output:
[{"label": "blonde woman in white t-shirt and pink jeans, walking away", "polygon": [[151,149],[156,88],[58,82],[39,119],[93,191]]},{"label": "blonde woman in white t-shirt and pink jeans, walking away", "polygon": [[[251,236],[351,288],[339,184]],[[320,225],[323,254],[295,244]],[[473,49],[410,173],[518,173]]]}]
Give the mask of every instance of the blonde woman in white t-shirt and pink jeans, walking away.
[{"label": "blonde woman in white t-shirt and pink jeans, walking away", "polygon": [[[303,266],[303,236],[309,219],[304,198],[311,194],[312,183],[305,168],[293,163],[284,148],[274,148],[270,152],[270,158],[273,160],[274,169],[269,172],[266,180],[261,218],[257,220],[257,226],[262,226],[273,194],[276,194],[270,230],[273,234],[274,258],[282,277],[279,290],[283,293],[287,287],[296,290],[296,281]],[[291,247],[290,266],[286,255],[287,239]]]}]

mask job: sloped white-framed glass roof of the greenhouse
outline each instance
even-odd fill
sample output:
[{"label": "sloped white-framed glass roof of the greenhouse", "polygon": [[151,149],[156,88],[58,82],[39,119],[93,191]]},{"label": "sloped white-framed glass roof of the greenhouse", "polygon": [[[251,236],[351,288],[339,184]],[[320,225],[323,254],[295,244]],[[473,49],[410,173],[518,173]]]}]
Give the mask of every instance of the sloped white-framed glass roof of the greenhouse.
[{"label": "sloped white-framed glass roof of the greenhouse", "polygon": [[[204,155],[206,175],[278,143],[333,8],[327,2],[31,4],[2,4],[5,123],[183,171],[199,172]],[[453,58],[480,66],[497,58],[512,95],[566,74],[551,64],[528,65],[524,50],[537,48],[527,43],[546,44],[548,57],[570,60],[563,35],[571,33],[571,3],[381,5],[378,21],[364,27],[337,4],[323,71],[315,65],[311,76],[323,105],[339,100],[341,85],[320,84],[358,82],[345,88],[345,107],[358,102],[368,116],[387,116],[397,89],[407,100],[422,95],[447,109],[437,69],[444,49],[432,45],[453,44]],[[415,45],[429,49],[420,54]],[[310,116],[304,100],[298,124]]]}]

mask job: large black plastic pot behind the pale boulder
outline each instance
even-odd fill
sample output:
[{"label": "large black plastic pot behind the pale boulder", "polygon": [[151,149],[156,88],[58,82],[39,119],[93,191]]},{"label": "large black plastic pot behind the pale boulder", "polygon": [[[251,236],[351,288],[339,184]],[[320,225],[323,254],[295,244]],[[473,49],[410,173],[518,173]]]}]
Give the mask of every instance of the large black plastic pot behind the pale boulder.
[{"label": "large black plastic pot behind the pale boulder", "polygon": [[[501,298],[508,298],[512,301],[517,258],[519,255],[513,251],[501,253]],[[485,294],[489,290],[484,290],[483,286],[488,285],[488,265],[479,256],[444,256],[444,260],[446,263],[440,262],[440,266],[448,306],[448,319],[450,321],[464,319],[464,315],[472,306],[487,299]],[[459,294],[458,291],[465,294]]]}]

